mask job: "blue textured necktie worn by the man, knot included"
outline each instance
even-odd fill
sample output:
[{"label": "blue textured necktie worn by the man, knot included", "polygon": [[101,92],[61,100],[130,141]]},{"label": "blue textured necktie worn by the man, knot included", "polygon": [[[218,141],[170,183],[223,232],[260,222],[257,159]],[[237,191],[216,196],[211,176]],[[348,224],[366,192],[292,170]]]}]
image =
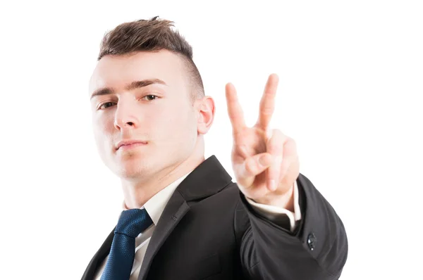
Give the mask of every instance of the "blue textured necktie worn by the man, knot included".
[{"label": "blue textured necktie worn by the man, knot included", "polygon": [[101,280],[128,280],[135,257],[135,237],[152,225],[145,208],[122,211]]}]

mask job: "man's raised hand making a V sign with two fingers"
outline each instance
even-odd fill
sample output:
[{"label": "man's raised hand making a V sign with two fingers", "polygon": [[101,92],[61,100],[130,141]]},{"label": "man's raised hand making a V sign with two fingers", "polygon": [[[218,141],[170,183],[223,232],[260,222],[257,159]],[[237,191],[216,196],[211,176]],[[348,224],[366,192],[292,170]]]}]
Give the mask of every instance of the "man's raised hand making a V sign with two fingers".
[{"label": "man's raised hand making a V sign with two fingers", "polygon": [[267,205],[278,205],[282,198],[292,196],[294,182],[300,174],[295,141],[278,129],[269,129],[277,87],[278,76],[272,74],[264,87],[257,123],[247,127],[235,87],[226,84],[235,179],[247,198]]}]

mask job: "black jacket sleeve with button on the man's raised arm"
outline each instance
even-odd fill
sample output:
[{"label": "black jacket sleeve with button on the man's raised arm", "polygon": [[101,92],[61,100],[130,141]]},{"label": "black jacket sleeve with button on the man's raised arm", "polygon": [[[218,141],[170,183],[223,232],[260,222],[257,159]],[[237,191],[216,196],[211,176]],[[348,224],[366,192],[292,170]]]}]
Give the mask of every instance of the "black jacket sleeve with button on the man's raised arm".
[{"label": "black jacket sleeve with button on the man's raised arm", "polygon": [[235,210],[235,235],[247,279],[338,279],[348,255],[341,218],[312,182],[300,174],[298,227],[286,227],[262,217],[240,193]]}]

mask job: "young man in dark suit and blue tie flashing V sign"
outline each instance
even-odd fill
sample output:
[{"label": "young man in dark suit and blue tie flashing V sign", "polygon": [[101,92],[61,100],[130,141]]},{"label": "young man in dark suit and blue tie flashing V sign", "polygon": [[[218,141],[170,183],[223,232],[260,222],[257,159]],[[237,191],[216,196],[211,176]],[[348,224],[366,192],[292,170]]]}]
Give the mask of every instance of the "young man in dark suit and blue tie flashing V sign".
[{"label": "young man in dark suit and blue tie flashing V sign", "polygon": [[338,279],[343,223],[300,174],[295,141],[269,129],[278,77],[254,127],[226,85],[234,183],[204,158],[214,101],[172,26],[138,20],[103,39],[90,80],[94,136],[124,203],[82,279]]}]

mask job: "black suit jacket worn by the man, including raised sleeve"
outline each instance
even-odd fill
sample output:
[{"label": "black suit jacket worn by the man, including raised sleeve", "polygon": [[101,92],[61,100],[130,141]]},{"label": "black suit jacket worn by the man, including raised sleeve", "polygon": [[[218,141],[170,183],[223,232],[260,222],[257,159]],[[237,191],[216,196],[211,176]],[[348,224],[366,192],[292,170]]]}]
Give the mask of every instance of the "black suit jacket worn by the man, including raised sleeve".
[{"label": "black suit jacket worn by the man, including raised sleeve", "polygon": [[[213,155],[168,201],[149,241],[138,280],[338,279],[348,241],[341,219],[312,182],[297,179],[302,213],[295,232],[252,210]],[[109,254],[114,230],[82,280]],[[116,279],[118,280],[118,279]]]}]

